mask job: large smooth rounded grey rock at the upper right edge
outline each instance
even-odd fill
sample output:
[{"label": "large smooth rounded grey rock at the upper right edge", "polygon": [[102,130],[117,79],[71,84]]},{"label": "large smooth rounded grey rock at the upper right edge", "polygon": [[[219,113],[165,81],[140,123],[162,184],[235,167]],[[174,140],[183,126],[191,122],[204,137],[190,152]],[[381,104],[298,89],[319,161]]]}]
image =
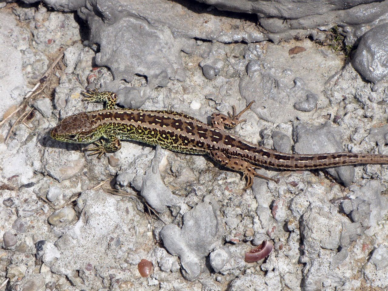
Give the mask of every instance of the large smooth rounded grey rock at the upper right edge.
[{"label": "large smooth rounded grey rock at the upper right edge", "polygon": [[388,23],[380,24],[362,36],[352,64],[373,83],[388,75]]}]

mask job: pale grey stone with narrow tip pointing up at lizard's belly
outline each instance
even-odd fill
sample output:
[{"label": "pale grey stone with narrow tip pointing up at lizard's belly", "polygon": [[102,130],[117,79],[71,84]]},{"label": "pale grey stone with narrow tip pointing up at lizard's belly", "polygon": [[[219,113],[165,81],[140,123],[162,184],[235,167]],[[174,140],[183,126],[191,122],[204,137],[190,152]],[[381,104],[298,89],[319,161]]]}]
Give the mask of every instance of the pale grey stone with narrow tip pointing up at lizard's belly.
[{"label": "pale grey stone with narrow tip pointing up at lizard's belly", "polygon": [[140,189],[138,188],[140,195],[159,213],[165,212],[168,209],[167,206],[176,205],[181,200],[180,197],[172,194],[160,176],[159,164],[164,157],[165,151],[158,145],[151,167],[145,172],[145,175],[142,175],[141,185],[133,183],[134,187],[140,186]]}]

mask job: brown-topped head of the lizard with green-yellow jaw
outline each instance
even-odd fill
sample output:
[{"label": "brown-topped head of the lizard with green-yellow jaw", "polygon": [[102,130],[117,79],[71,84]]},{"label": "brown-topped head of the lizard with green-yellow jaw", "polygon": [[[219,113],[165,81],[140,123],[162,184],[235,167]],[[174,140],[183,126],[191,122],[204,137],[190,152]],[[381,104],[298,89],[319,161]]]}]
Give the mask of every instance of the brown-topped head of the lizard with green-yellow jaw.
[{"label": "brown-topped head of the lizard with green-yellow jaw", "polygon": [[95,130],[86,112],[80,112],[64,118],[51,130],[50,136],[62,142],[81,144],[88,144],[99,138],[96,137]]}]

